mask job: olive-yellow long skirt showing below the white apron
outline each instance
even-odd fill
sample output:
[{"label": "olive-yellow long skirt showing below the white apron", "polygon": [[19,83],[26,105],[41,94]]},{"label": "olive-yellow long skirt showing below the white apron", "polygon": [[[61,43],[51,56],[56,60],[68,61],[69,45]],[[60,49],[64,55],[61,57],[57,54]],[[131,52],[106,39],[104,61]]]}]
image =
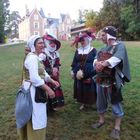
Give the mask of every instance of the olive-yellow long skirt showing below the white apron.
[{"label": "olive-yellow long skirt showing below the white apron", "polygon": [[46,128],[33,130],[31,120],[17,134],[18,140],[46,140]]}]

